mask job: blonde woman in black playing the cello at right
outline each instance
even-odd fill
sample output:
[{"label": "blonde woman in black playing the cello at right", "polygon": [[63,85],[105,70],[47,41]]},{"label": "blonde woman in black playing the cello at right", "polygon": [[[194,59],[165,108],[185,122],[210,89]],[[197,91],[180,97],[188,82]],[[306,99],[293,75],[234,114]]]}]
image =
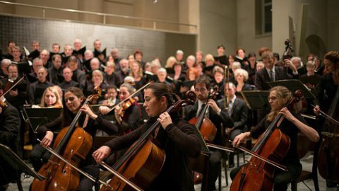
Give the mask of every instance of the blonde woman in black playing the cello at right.
[{"label": "blonde woman in black playing the cello at right", "polygon": [[[258,138],[259,135],[266,130],[270,123],[273,122],[278,114],[283,115],[283,117],[278,121],[278,124],[276,124],[276,127],[278,127],[278,129],[280,129],[283,134],[290,138],[290,149],[287,151],[287,154],[281,161],[281,164],[287,167],[287,171],[278,170],[278,168],[275,169],[273,180],[274,190],[287,190],[287,185],[292,180],[297,178],[302,172],[302,164],[299,161],[297,152],[298,131],[300,130],[311,141],[319,140],[319,134],[315,129],[306,125],[306,122],[299,114],[285,108],[285,105],[290,103],[291,99],[292,93],[284,86],[276,86],[272,88],[268,97],[271,107],[270,113],[266,115],[266,117],[263,118],[263,120],[261,120],[261,122],[256,127],[253,127],[251,131],[239,134],[233,140],[233,145],[239,146],[239,144],[245,139],[250,139],[251,137]],[[295,104],[294,109],[301,107],[302,101],[299,101]],[[232,180],[235,178],[240,168],[242,167],[234,168],[231,171],[230,177]]]}]

